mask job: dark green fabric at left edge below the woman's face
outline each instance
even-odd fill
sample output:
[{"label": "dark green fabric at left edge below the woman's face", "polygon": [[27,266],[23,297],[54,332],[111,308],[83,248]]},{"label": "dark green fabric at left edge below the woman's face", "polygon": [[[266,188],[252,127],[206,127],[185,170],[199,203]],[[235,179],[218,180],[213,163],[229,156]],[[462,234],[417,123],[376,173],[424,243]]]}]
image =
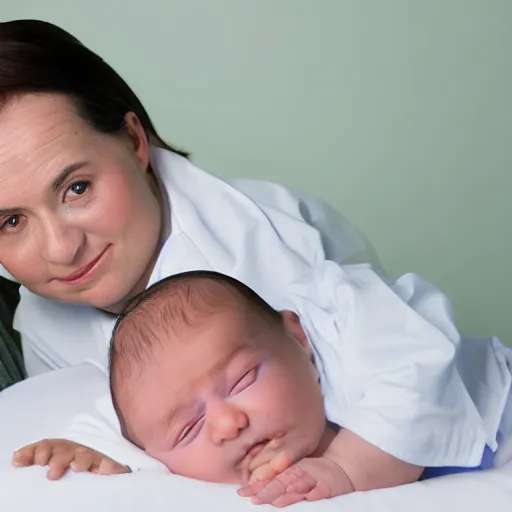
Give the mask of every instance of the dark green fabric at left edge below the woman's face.
[{"label": "dark green fabric at left edge below the woman's face", "polygon": [[20,340],[12,328],[18,287],[0,278],[0,391],[25,378]]}]

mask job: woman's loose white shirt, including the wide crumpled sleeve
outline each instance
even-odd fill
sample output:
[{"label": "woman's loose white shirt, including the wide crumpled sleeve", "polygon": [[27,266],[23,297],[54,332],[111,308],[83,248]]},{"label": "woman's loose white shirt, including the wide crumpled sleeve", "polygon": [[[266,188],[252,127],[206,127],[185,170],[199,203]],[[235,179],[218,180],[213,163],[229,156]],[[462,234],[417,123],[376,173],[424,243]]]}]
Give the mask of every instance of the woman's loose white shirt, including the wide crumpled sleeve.
[{"label": "woman's loose white shirt, including the wide crumpled sleeve", "polygon": [[[152,165],[170,206],[170,233],[149,284],[214,270],[276,309],[295,309],[314,347],[327,417],[391,455],[421,466],[477,466],[486,444],[496,448],[511,385],[501,345],[479,343],[486,366],[464,374],[459,334],[438,290],[413,275],[387,283],[369,265],[326,260],[320,231],[286,189],[267,186],[274,194],[267,200],[259,187],[256,199],[247,183],[233,186],[160,149]],[[112,317],[27,290],[21,295],[15,325],[29,371],[87,359],[106,365]],[[110,401],[99,403],[106,430],[117,433],[112,411],[105,412]],[[78,423],[98,424],[85,420]],[[77,425],[75,440],[137,466],[109,451],[112,443],[102,446],[98,430],[90,442],[87,428],[80,438]]]}]

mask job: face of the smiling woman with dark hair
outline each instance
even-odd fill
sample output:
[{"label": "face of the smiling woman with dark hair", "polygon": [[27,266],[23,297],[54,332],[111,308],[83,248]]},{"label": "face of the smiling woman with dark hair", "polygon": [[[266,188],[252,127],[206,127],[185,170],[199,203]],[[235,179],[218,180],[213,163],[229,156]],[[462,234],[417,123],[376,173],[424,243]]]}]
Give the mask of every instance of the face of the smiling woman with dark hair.
[{"label": "face of the smiling woman with dark hair", "polygon": [[144,289],[161,206],[146,135],[93,130],[61,95],[0,111],[0,263],[44,297],[118,311]]}]

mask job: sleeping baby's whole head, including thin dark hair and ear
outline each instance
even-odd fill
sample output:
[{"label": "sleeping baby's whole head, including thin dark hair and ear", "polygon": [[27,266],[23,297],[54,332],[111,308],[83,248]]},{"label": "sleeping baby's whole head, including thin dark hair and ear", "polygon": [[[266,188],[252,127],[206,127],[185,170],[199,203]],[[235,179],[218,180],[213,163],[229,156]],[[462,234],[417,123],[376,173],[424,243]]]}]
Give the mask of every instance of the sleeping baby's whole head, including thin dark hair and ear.
[{"label": "sleeping baby's whole head, including thin dark hair and ear", "polygon": [[123,434],[180,475],[240,483],[270,441],[303,457],[323,439],[298,317],[221,274],[180,274],[146,290],[116,325],[110,369]]}]

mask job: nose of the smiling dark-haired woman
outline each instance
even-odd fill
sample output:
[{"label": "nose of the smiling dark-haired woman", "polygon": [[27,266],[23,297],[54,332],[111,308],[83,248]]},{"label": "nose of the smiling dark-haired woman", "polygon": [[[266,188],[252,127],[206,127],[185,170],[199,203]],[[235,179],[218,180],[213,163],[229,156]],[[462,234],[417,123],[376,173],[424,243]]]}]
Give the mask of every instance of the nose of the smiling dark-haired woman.
[{"label": "nose of the smiling dark-haired woman", "polygon": [[47,263],[72,265],[79,257],[84,233],[56,220],[46,221],[40,233],[41,256]]}]

